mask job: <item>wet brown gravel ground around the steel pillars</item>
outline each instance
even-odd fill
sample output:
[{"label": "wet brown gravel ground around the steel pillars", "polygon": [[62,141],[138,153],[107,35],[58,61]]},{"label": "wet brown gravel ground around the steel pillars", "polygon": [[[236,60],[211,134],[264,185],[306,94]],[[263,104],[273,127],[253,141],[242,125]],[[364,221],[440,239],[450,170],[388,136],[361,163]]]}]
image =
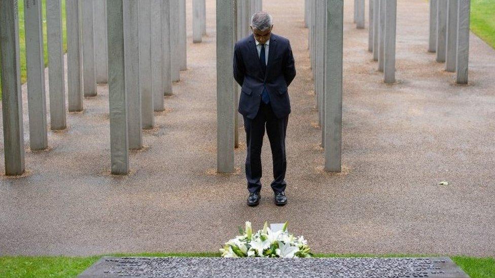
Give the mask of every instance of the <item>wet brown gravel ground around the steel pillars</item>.
[{"label": "wet brown gravel ground around the steel pillars", "polygon": [[[67,130],[50,131],[50,149],[41,152],[28,149],[23,87],[27,173],[0,177],[0,254],[214,252],[246,220],[255,228],[289,221],[316,253],[495,253],[495,50],[473,35],[471,83],[456,86],[427,52],[428,3],[399,1],[399,82],[387,86],[367,52],[368,30],[355,28],[346,1],[344,172],[326,174],[304,1],[264,1],[297,65],[289,88],[289,204],[273,204],[265,138],[263,197],[249,208],[242,128],[238,171],[215,174],[215,2],[207,1],[201,44],[192,44],[187,4],[188,70],[165,98],[166,111],[156,113],[156,128],[144,132],[146,148],[131,152],[128,176],[110,175],[107,87],[85,99],[83,113],[67,115]],[[444,180],[448,186],[438,185]]]}]

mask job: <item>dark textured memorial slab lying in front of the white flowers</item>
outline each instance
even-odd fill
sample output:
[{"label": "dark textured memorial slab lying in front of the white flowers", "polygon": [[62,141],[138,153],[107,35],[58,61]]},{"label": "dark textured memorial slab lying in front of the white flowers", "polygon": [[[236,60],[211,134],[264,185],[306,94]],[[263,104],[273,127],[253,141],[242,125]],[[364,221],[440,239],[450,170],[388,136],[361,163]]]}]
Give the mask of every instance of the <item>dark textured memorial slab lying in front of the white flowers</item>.
[{"label": "dark textured memorial slab lying in front of the white flowers", "polygon": [[449,258],[103,257],[79,277],[469,277]]}]

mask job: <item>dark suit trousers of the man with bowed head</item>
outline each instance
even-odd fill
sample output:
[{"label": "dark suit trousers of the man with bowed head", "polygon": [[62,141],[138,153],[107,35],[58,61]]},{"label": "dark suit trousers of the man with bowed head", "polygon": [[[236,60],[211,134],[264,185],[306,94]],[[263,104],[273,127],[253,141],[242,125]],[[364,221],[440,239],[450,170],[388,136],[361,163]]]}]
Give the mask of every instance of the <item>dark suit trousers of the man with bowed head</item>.
[{"label": "dark suit trousers of the man with bowed head", "polygon": [[256,192],[261,189],[261,147],[263,137],[266,133],[270,141],[273,158],[273,191],[284,191],[286,189],[286,131],[289,115],[277,118],[272,111],[270,102],[265,104],[261,101],[260,109],[254,119],[246,116],[244,118],[244,130],[246,132],[246,179],[248,180],[248,190]]}]

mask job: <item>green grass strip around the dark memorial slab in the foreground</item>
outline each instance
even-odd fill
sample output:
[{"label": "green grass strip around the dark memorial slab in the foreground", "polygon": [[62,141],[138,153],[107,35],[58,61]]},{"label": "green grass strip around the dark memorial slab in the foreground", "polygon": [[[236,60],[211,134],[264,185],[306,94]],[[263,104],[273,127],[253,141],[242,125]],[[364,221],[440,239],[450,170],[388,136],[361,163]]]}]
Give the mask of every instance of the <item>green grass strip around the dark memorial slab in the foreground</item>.
[{"label": "green grass strip around the dark memorial slab in the foreground", "polygon": [[[141,253],[111,254],[111,256],[143,257],[217,257],[220,253]],[[390,254],[380,257],[422,257],[425,255]],[[434,255],[432,255],[434,256]],[[1,277],[75,277],[96,262],[101,256],[90,257],[0,257]],[[316,254],[315,257],[377,257],[371,254]],[[495,277],[493,258],[465,256],[450,257],[471,277]]]}]

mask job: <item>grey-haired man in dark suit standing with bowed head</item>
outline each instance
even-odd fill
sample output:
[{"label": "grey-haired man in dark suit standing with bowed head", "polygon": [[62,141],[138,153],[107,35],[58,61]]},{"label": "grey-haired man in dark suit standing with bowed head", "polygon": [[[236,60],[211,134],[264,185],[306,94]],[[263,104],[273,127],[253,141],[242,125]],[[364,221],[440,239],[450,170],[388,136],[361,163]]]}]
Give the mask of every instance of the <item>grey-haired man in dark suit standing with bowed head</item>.
[{"label": "grey-haired man in dark suit standing with bowed head", "polygon": [[273,34],[272,17],[257,12],[251,18],[253,34],[235,44],[234,78],[242,87],[238,111],[246,131],[246,179],[248,205],[256,206],[261,198],[261,146],[266,133],[273,157],[274,201],[287,204],[286,130],[291,104],[287,87],[296,76],[294,56],[287,38]]}]

